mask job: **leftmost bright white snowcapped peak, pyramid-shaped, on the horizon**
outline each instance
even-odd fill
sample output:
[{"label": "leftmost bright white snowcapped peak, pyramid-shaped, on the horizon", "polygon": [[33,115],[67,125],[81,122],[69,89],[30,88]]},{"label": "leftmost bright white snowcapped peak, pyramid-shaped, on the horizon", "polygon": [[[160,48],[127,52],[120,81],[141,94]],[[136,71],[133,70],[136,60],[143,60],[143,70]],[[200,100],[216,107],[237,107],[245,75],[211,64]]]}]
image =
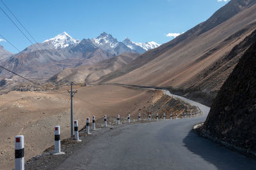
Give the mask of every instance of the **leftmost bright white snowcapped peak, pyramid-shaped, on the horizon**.
[{"label": "leftmost bright white snowcapped peak, pyramid-shaped, on the horizon", "polygon": [[80,41],[78,39],[72,38],[67,32],[62,32],[58,34],[54,38],[47,39],[43,42],[43,44],[52,45],[55,49],[58,48],[66,48],[70,45],[77,45]]}]

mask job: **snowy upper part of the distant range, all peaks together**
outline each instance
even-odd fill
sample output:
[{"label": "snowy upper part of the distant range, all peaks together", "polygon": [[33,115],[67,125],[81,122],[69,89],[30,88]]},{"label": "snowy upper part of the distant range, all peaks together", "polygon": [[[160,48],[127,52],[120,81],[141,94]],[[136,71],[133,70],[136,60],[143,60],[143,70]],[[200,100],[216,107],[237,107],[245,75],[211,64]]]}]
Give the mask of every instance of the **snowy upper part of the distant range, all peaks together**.
[{"label": "snowy upper part of the distant range, all peaks together", "polygon": [[[84,40],[84,39],[83,39]],[[83,41],[82,40],[82,41]],[[60,48],[73,48],[79,45],[81,41],[72,38],[67,32],[62,32],[54,38],[47,39],[42,43],[38,43],[33,46],[26,48],[23,53],[33,52],[36,50],[50,50],[50,49],[60,49]],[[83,42],[83,44],[85,41]],[[119,55],[121,53],[144,53],[147,50],[157,48],[160,46],[154,41],[148,43],[135,43],[129,38],[125,38],[124,41],[119,42],[116,38],[113,38],[111,34],[103,32],[97,38],[86,39],[86,43],[93,44],[96,48],[105,50],[106,52],[113,53],[114,55]],[[37,47],[35,47],[37,46]]]}]

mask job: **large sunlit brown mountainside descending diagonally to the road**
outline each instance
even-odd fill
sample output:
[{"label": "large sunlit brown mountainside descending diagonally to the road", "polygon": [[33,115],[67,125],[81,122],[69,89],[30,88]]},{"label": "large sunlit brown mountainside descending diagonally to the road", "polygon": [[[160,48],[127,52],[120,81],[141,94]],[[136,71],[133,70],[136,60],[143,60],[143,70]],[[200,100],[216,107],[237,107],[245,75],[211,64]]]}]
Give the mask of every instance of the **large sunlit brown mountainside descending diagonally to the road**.
[{"label": "large sunlit brown mountainside descending diagonally to the road", "polygon": [[256,29],[255,3],[230,1],[205,22],[143,53],[99,82],[170,87],[210,106],[241,55],[252,44],[244,43],[236,50],[236,45],[246,41]]}]

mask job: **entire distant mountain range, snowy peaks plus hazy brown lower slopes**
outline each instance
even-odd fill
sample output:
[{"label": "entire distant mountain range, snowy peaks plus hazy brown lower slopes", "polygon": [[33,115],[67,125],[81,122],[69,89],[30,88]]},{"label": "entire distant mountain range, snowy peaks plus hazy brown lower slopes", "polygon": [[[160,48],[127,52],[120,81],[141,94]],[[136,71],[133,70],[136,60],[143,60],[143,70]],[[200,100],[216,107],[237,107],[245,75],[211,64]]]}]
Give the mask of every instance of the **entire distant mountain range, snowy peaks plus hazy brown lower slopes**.
[{"label": "entire distant mountain range, snowy peaks plus hazy brown lower slopes", "polygon": [[[128,40],[119,42],[111,34],[103,32],[97,38],[79,41],[62,32],[16,54],[0,46],[0,64],[24,76],[46,80],[66,67],[88,66],[122,53],[144,53],[160,46],[154,41],[134,43]],[[8,76],[12,74],[0,71],[0,77]]]}]

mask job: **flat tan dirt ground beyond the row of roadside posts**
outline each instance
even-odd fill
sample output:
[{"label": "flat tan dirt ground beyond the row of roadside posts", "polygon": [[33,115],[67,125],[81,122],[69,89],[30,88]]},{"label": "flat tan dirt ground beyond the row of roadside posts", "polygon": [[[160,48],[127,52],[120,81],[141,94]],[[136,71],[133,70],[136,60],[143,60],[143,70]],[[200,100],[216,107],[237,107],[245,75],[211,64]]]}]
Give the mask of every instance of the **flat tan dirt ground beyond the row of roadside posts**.
[{"label": "flat tan dirt ground beyond the row of roadside posts", "polygon": [[[0,169],[14,166],[14,138],[24,135],[25,160],[42,153],[54,144],[54,126],[61,126],[61,139],[70,137],[70,96],[63,87],[60,93],[12,91],[0,96]],[[75,86],[74,120],[79,127],[86,117],[97,119],[138,115],[163,96],[152,90],[132,89],[111,85]]]}]

